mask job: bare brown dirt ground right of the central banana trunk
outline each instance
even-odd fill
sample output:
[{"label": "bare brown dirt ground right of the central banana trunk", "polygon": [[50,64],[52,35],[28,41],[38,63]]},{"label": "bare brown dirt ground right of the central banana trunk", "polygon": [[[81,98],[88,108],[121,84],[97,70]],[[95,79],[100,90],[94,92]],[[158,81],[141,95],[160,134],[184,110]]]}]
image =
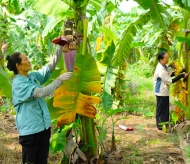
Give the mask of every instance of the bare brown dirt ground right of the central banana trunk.
[{"label": "bare brown dirt ground right of the central banana trunk", "polygon": [[[134,131],[121,130],[119,124],[134,127]],[[177,134],[157,130],[154,118],[130,115],[116,123],[115,137],[123,164],[185,163]]]}]

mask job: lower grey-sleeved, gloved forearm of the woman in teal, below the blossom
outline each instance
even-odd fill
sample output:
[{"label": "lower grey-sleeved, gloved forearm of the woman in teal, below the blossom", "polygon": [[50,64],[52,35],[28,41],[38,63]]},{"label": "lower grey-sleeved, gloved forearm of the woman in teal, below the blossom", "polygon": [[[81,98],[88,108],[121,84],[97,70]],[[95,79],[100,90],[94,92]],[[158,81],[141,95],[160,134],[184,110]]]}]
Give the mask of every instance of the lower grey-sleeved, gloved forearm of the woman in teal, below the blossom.
[{"label": "lower grey-sleeved, gloved forearm of the woman in teal, below the blossom", "polygon": [[57,79],[55,79],[51,84],[43,87],[43,88],[35,88],[33,97],[34,98],[43,98],[49,96],[53,93],[58,87],[60,87],[63,81],[68,80],[72,77],[72,72],[66,72],[60,75]]}]

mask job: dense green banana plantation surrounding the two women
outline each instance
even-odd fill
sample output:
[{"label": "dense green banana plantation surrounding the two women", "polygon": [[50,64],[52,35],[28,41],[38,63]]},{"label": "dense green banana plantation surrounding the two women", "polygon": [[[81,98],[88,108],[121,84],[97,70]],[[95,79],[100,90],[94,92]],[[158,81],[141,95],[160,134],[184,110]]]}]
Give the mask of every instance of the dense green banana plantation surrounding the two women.
[{"label": "dense green banana plantation surrounding the two women", "polygon": [[[0,3],[0,145],[6,147],[9,141],[3,119],[16,117],[12,103],[15,75],[7,69],[6,57],[22,52],[35,71],[51,61],[57,44],[62,44],[63,55],[44,87],[67,71],[72,72],[72,78],[45,97],[52,124],[49,163],[147,163],[145,155],[141,160],[131,160],[132,156],[139,156],[140,147],[137,151],[131,146],[130,156],[128,150],[119,151],[121,139],[117,132],[126,131],[116,126],[129,115],[133,122],[138,122],[137,116],[144,118],[139,126],[143,120],[155,120],[156,99],[151,87],[160,51],[167,52],[176,76],[182,68],[190,72],[190,0],[0,0]],[[135,84],[131,82],[133,77]],[[150,101],[145,87],[147,78],[154,96],[152,106],[146,104]],[[141,96],[135,90],[142,81],[143,103],[138,101]],[[188,140],[189,93],[189,78],[170,88],[170,121],[163,123],[163,127],[168,125],[167,133],[161,135],[178,135],[176,142],[180,138]],[[153,129],[155,124],[153,121]],[[134,131],[129,127],[129,133],[135,136],[138,127]],[[109,144],[106,140],[110,140]],[[124,140],[130,144],[127,137]],[[142,138],[141,141],[147,144]],[[184,142],[185,146],[179,146]],[[187,162],[188,141],[181,141],[178,147],[182,147],[181,163]],[[21,151],[10,157],[5,153],[7,149],[0,149],[0,163],[21,163]],[[18,144],[15,149],[21,146]],[[150,163],[175,163],[172,156],[165,161],[164,157],[163,161],[154,157],[149,158]]]}]

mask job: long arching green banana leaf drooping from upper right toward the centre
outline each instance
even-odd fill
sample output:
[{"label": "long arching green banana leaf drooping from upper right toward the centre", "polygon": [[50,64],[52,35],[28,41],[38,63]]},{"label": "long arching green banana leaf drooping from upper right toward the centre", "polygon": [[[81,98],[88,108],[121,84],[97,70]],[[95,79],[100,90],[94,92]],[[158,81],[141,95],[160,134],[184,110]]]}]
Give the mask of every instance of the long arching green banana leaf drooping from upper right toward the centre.
[{"label": "long arching green banana leaf drooping from upper right toward the centre", "polygon": [[[138,29],[147,24],[150,20],[155,28],[167,29],[170,25],[170,14],[166,7],[158,3],[158,0],[135,0],[144,11],[134,22],[132,22],[123,32],[120,41],[117,43],[116,53],[113,58],[113,65],[120,66],[125,62],[130,53],[131,43],[136,36]],[[164,33],[165,34],[165,33]]]}]

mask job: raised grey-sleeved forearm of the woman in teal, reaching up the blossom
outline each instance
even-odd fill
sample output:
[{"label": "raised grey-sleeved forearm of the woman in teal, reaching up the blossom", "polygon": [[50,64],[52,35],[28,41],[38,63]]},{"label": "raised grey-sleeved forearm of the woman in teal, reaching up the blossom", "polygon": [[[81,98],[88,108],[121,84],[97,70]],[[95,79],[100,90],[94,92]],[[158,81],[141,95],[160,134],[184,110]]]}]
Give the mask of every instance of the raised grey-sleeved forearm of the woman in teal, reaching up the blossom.
[{"label": "raised grey-sleeved forearm of the woman in teal, reaching up the blossom", "polygon": [[57,45],[53,58],[51,59],[49,63],[46,64],[46,66],[49,68],[51,72],[55,69],[61,55],[62,55],[62,46]]}]

